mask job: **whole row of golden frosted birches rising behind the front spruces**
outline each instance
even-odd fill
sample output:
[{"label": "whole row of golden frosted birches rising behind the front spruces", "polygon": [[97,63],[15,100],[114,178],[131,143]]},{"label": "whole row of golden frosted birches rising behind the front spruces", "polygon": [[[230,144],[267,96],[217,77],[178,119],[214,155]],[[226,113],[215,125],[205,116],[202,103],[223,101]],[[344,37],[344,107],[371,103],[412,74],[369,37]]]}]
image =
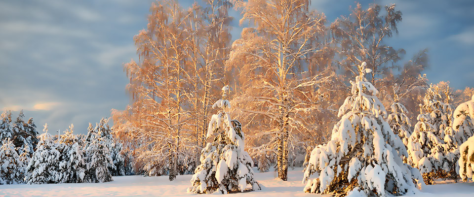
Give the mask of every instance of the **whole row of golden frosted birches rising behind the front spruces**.
[{"label": "whole row of golden frosted birches rising behind the front spruces", "polygon": [[[410,124],[418,121],[418,105],[430,94],[422,74],[429,58],[423,49],[401,62],[405,51],[387,44],[402,12],[395,4],[356,3],[350,15],[329,22],[310,3],[203,0],[189,9],[173,0],[153,3],[147,28],[134,37],[139,60],[124,67],[130,103],[112,114],[114,133],[133,150],[138,168],[170,180],[194,173],[209,140],[211,101],[229,85],[230,113],[246,132],[246,150],[260,171],[275,168],[286,180],[289,166],[308,164],[313,148],[331,139],[363,62],[376,96],[391,106],[390,118],[400,119],[395,114],[403,110],[400,120],[408,124],[392,126],[408,142],[419,126]],[[232,42],[233,8],[246,28]],[[472,96],[474,89],[453,91],[448,84],[431,86],[447,87],[456,104]]]}]

